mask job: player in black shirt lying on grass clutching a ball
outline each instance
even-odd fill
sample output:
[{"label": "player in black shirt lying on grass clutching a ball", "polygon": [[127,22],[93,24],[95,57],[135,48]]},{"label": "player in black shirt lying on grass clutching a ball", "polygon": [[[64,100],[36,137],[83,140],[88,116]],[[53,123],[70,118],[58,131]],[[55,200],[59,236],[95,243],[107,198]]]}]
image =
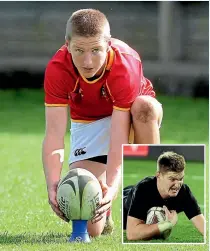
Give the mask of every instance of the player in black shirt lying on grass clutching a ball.
[{"label": "player in black shirt lying on grass clutching a ball", "polygon": [[[128,240],[147,240],[163,234],[177,223],[178,213],[186,216],[204,234],[204,216],[190,188],[183,184],[185,159],[174,152],[158,158],[156,176],[146,177],[135,186],[123,189],[123,228]],[[163,207],[167,220],[146,224],[147,212],[152,207]]]}]

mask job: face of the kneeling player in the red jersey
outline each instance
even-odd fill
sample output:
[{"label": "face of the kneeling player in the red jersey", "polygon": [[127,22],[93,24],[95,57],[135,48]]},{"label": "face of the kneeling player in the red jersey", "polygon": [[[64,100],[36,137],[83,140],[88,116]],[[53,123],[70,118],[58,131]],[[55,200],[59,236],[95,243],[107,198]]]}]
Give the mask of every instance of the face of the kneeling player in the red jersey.
[{"label": "face of the kneeling player in the red jersey", "polygon": [[75,67],[85,78],[102,73],[108,48],[108,42],[103,36],[73,36],[68,45]]}]

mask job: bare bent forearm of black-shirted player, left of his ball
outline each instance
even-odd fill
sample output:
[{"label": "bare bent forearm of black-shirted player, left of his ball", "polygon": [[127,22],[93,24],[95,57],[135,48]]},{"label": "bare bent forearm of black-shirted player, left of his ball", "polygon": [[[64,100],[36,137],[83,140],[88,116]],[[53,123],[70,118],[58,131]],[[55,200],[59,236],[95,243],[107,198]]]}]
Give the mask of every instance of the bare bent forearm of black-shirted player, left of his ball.
[{"label": "bare bent forearm of black-shirted player, left of his ball", "polygon": [[128,240],[149,240],[159,234],[160,231],[157,224],[148,225],[143,220],[128,215],[126,229]]}]

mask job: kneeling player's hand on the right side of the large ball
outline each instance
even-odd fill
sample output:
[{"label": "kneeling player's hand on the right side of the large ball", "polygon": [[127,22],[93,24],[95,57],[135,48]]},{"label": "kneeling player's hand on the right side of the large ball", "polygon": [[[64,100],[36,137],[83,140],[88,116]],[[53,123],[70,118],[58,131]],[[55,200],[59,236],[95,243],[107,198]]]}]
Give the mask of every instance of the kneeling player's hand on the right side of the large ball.
[{"label": "kneeling player's hand on the right side of the large ball", "polygon": [[96,209],[95,216],[91,220],[92,223],[100,221],[106,215],[115,196],[115,191],[112,187],[107,186],[107,184],[104,184],[102,181],[99,182],[103,193],[103,199],[101,200],[100,206]]}]

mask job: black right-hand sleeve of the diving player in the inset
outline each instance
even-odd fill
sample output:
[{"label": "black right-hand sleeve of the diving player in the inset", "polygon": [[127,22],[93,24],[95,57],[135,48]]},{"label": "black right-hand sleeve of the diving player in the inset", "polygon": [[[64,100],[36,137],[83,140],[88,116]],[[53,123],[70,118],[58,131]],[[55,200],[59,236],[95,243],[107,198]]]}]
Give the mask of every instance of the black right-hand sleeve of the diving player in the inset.
[{"label": "black right-hand sleeve of the diving player in the inset", "polygon": [[185,195],[184,195],[183,211],[185,212],[187,218],[190,220],[196,215],[201,214],[201,210],[190,188],[186,184],[184,186],[185,186]]}]

